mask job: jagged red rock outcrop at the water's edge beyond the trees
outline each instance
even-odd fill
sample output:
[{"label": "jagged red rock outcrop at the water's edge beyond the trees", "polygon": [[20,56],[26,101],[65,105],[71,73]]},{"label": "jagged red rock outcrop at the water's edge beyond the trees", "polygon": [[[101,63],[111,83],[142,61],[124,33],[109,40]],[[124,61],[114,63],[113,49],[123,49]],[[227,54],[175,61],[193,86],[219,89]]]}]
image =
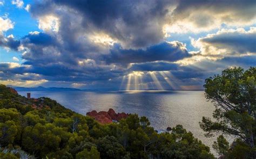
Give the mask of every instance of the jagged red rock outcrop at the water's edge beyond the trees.
[{"label": "jagged red rock outcrop at the water's edge beyond the trees", "polygon": [[100,111],[98,113],[97,111],[93,110],[91,112],[87,112],[86,115],[95,118],[95,120],[99,121],[101,124],[110,124],[113,120],[119,121],[121,119],[127,118],[129,114],[124,112],[116,113],[113,109],[109,109],[107,112]]}]

